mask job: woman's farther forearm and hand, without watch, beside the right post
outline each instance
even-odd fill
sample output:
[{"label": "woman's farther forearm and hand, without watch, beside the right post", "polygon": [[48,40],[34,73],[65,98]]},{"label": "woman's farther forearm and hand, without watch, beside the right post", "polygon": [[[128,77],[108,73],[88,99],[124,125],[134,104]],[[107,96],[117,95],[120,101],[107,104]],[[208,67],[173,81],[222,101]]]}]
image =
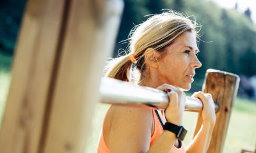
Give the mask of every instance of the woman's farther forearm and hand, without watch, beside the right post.
[{"label": "woman's farther forearm and hand, without watch, beside the right post", "polygon": [[200,99],[204,105],[202,110],[202,126],[187,147],[187,153],[207,152],[216,122],[214,101],[211,94],[204,94],[202,92],[194,93],[193,97]]}]

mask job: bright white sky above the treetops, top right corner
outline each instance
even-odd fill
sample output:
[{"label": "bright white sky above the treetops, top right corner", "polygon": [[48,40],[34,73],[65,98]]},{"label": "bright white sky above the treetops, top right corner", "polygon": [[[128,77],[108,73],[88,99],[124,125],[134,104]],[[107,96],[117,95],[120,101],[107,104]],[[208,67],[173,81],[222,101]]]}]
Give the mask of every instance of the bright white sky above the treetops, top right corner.
[{"label": "bright white sky above the treetops, top right corner", "polygon": [[255,0],[208,0],[214,1],[222,8],[233,9],[234,5],[238,4],[237,10],[243,13],[247,8],[251,10],[251,19],[256,24],[256,1]]}]

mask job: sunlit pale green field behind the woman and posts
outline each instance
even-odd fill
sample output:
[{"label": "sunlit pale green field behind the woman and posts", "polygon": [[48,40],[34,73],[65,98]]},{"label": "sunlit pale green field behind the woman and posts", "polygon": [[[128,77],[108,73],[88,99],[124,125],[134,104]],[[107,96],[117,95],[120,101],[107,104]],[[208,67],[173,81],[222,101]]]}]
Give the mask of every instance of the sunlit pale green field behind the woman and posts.
[{"label": "sunlit pale green field behind the woman and posts", "polygon": [[[6,95],[8,93],[10,75],[8,72],[0,71],[0,122],[2,119]],[[95,152],[99,131],[102,126],[105,113],[109,105],[97,104],[95,114],[91,123],[91,132],[86,145],[86,152]],[[191,141],[197,113],[185,112],[184,126],[188,129],[184,144]],[[256,101],[249,101],[237,98],[234,103],[227,132],[224,151],[225,153],[239,153],[242,147],[256,144]]]}]

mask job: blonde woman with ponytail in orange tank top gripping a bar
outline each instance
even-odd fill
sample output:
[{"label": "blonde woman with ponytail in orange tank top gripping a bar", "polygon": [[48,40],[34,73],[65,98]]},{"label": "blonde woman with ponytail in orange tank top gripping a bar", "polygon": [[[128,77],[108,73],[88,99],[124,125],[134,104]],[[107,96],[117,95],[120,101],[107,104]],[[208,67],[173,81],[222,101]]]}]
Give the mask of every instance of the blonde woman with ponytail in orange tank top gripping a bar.
[{"label": "blonde woman with ponytail in orange tank top gripping a bar", "polygon": [[[130,82],[138,78],[138,85],[167,92],[169,105],[165,112],[111,105],[97,152],[207,151],[216,120],[210,94],[193,94],[204,105],[202,126],[186,150],[182,136],[175,131],[183,125],[186,95],[182,90],[191,88],[195,68],[201,67],[196,38],[195,23],[172,11],[154,15],[131,30],[130,53],[110,61],[107,77]],[[131,70],[133,63],[135,70]],[[134,75],[136,70],[139,77]]]}]

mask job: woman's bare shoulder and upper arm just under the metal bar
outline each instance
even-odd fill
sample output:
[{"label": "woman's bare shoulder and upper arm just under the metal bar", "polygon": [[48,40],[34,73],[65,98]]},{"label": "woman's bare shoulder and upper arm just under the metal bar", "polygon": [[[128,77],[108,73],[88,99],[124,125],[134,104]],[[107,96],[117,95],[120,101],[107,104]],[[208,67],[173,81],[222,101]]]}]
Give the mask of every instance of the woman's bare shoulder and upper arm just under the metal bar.
[{"label": "woman's bare shoulder and upper arm just under the metal bar", "polygon": [[151,109],[113,105],[105,122],[104,132],[108,134],[104,133],[104,139],[111,152],[147,151],[150,147],[154,123]]}]

